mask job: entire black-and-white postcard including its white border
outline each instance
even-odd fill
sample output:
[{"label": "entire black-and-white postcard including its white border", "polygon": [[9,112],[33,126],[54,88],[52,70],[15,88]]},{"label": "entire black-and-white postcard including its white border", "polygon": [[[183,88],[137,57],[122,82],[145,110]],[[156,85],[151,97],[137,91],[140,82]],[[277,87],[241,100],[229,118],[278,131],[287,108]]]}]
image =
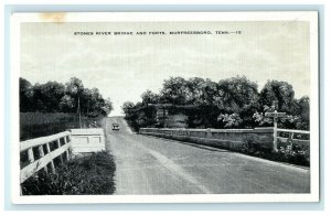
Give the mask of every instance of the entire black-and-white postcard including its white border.
[{"label": "entire black-and-white postcard including its white border", "polygon": [[319,201],[316,11],[14,13],[11,51],[14,203]]}]

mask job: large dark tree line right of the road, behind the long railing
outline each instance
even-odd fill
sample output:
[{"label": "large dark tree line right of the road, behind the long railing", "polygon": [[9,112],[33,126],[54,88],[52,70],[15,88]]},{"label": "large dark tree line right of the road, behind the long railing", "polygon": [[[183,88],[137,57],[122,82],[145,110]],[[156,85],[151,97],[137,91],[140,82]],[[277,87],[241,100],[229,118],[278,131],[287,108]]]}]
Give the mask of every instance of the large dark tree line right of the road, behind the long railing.
[{"label": "large dark tree line right of the road, behind the long railing", "polygon": [[279,127],[309,130],[309,97],[295,98],[287,82],[268,80],[261,90],[245,76],[221,79],[170,77],[164,79],[159,93],[146,90],[141,101],[126,101],[122,110],[135,129],[164,127],[156,119],[158,104],[168,105],[169,115],[186,116],[189,128],[255,128],[273,126],[265,112],[277,110],[287,117]]}]

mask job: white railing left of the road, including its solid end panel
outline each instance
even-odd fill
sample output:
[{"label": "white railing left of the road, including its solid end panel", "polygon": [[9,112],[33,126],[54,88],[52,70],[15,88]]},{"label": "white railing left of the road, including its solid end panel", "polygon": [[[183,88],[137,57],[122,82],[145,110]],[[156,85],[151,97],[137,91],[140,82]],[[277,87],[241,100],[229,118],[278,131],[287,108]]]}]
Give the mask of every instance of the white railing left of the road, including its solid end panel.
[{"label": "white railing left of the road, including its solid end panel", "polygon": [[53,136],[20,142],[20,183],[40,170],[55,173],[57,165],[68,161],[72,153],[106,150],[100,128],[72,129]]}]

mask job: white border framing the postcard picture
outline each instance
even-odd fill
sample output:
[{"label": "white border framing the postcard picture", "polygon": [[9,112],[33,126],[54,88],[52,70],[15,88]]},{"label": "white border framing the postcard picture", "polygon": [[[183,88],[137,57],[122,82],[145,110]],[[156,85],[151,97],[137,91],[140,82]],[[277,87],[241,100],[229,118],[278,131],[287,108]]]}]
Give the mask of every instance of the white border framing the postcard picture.
[{"label": "white border framing the postcard picture", "polygon": [[318,202],[319,201],[319,50],[318,12],[71,12],[65,22],[143,22],[143,21],[308,21],[310,22],[310,120],[311,166],[310,194],[190,194],[190,195],[20,195],[19,148],[19,77],[20,24],[22,22],[52,22],[40,19],[40,13],[14,13],[10,31],[10,120],[11,120],[11,200],[14,204],[71,203],[234,203],[234,202]]}]

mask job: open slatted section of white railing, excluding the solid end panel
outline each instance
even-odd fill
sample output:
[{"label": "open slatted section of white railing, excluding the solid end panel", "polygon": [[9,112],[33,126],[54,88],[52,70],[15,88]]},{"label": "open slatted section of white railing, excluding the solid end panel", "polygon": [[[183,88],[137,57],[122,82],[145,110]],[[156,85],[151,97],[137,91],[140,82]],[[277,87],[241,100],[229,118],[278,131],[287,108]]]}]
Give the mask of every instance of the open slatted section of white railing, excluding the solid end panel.
[{"label": "open slatted section of white railing, excluding the solid end panel", "polygon": [[58,163],[70,159],[71,144],[70,131],[20,142],[20,182],[42,169],[55,172]]}]

